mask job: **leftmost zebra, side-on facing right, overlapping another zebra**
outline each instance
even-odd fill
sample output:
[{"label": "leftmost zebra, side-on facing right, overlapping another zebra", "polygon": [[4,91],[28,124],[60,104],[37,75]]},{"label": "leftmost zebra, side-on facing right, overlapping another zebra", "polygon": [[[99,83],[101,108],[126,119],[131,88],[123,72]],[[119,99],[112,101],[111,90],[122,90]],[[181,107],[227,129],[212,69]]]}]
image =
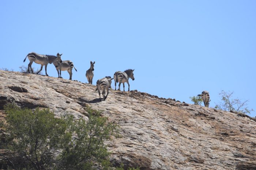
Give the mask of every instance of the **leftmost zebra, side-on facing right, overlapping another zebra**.
[{"label": "leftmost zebra, side-on facing right, overlapping another zebra", "polygon": [[60,58],[61,55],[62,54],[58,53],[57,57],[56,57],[54,55],[41,55],[41,54],[37,54],[37,53],[32,52],[32,53],[27,54],[27,56],[25,57],[23,62],[26,61],[27,57],[29,58],[30,62],[29,62],[29,65],[27,66],[27,72],[28,73],[30,73],[29,67],[31,68],[31,72],[33,73],[33,70],[32,70],[32,67],[31,67],[33,62],[35,62],[37,64],[41,64],[41,69],[37,72],[37,74],[39,72],[41,72],[42,69],[43,69],[43,66],[45,66],[45,75],[48,76],[48,74],[47,74],[47,65],[48,65],[48,63],[50,63],[50,64],[53,63],[54,65],[57,65],[57,63],[59,63],[59,62],[62,63],[62,60]]}]

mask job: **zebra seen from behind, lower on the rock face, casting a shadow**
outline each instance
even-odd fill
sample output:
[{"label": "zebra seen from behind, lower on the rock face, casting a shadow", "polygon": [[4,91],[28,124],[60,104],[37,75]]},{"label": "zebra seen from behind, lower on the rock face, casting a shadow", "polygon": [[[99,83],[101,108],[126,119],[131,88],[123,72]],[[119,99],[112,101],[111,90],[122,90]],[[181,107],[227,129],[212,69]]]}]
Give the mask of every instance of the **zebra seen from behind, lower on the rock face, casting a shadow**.
[{"label": "zebra seen from behind, lower on the rock face, casting a shadow", "polygon": [[[111,78],[110,76],[106,76],[102,79],[99,79],[96,83],[96,90],[98,90],[99,92],[99,100],[101,101],[101,92],[100,90],[102,89],[102,96],[103,96],[103,100],[105,100],[108,97],[109,94],[109,88],[111,88],[111,80],[113,80],[114,78]],[[107,90],[107,95],[105,96],[105,90]]]}]

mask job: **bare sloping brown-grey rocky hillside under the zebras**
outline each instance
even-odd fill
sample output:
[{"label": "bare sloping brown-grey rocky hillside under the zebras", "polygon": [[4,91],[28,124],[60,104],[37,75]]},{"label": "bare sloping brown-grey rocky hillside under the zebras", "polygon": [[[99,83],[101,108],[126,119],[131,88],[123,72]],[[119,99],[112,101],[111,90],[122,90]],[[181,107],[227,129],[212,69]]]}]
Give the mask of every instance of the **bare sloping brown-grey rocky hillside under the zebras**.
[{"label": "bare sloping brown-grey rocky hillside under the zebras", "polygon": [[[84,80],[86,78],[84,77]],[[95,82],[94,82],[95,83]],[[109,142],[115,165],[140,169],[256,169],[256,120],[147,93],[110,90],[99,101],[94,85],[35,74],[0,71],[3,105],[49,107],[56,116],[87,118],[84,107],[103,110],[122,138]]]}]

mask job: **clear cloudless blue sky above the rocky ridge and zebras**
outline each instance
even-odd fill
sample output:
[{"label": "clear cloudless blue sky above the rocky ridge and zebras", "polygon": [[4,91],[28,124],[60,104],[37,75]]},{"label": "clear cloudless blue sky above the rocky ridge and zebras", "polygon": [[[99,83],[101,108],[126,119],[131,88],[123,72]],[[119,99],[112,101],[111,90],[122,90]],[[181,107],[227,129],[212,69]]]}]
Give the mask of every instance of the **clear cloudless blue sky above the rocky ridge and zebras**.
[{"label": "clear cloudless blue sky above the rocky ridge and zebras", "polygon": [[[19,71],[32,51],[63,53],[73,80],[87,82],[95,61],[93,84],[135,69],[131,90],[186,103],[208,90],[210,107],[234,91],[256,109],[255,9],[255,0],[1,0],[0,68]],[[53,65],[48,74],[57,77]]]}]

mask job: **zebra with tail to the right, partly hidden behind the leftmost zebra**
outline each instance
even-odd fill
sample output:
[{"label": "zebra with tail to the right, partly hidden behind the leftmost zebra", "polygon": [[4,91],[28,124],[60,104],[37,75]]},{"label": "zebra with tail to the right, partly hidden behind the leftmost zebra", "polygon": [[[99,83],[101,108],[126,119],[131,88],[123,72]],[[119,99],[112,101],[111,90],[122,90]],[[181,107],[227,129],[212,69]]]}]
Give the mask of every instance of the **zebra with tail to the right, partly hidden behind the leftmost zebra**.
[{"label": "zebra with tail to the right, partly hidden behind the leftmost zebra", "polygon": [[[58,54],[57,54],[57,57],[58,57]],[[69,80],[72,80],[72,69],[73,69],[73,67],[76,70],[76,67],[74,66],[72,61],[65,60],[65,61],[62,61],[62,63],[59,63],[59,62],[55,63],[54,66],[55,66],[55,68],[56,68],[56,70],[58,72],[58,78],[62,78],[61,77],[61,71],[66,71],[67,70],[68,74],[69,74]],[[59,70],[60,70],[60,73],[59,73]],[[77,70],[76,70],[76,72],[77,72]]]}]

